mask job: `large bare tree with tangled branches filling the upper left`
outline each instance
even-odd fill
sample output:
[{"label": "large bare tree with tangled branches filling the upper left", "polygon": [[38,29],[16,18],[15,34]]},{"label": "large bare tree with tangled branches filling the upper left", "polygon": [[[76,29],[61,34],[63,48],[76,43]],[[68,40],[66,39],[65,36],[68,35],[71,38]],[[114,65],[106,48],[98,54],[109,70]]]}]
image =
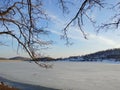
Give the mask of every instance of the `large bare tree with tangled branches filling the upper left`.
[{"label": "large bare tree with tangled branches filling the upper left", "polygon": [[38,25],[41,20],[47,20],[41,0],[0,1],[0,35],[14,38],[18,49],[22,47],[32,59],[36,59],[39,47],[51,44],[51,41],[40,39],[41,34],[47,33]]}]

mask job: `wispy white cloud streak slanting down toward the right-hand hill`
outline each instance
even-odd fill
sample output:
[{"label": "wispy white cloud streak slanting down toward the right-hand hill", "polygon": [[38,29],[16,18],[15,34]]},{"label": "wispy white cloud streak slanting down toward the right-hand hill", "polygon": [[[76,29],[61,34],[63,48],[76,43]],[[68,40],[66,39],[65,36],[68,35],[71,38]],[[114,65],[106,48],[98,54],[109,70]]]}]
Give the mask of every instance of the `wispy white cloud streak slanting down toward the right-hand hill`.
[{"label": "wispy white cloud streak slanting down toward the right-hand hill", "polygon": [[[61,30],[63,29],[64,25],[65,25],[65,21],[58,18],[56,15],[49,13],[49,17],[51,18],[51,20],[53,21],[53,23],[55,24],[55,27],[53,27],[52,29],[52,33],[57,34],[57,35],[63,35],[63,33],[61,32]],[[87,32],[88,33],[88,32]],[[84,42],[90,41],[90,42],[94,42],[94,43],[98,43],[98,44],[102,44],[102,45],[107,45],[110,47],[120,47],[120,43],[115,41],[114,38],[111,39],[109,37],[105,37],[105,36],[100,36],[100,35],[96,35],[93,33],[89,33],[88,35],[88,39],[89,40],[85,40],[83,37],[83,34],[81,33],[81,31],[79,30],[78,27],[75,26],[70,26],[69,30],[68,30],[68,37],[74,40],[79,40]]]}]

